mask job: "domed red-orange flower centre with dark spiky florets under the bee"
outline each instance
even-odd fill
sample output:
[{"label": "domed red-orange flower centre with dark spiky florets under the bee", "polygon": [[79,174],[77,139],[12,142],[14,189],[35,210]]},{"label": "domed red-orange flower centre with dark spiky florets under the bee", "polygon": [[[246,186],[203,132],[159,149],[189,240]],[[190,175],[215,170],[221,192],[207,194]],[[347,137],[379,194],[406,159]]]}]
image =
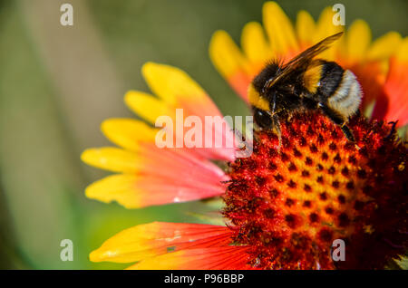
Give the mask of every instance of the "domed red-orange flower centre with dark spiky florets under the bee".
[{"label": "domed red-orange flower centre with dark spiky florets under the bee", "polygon": [[[384,122],[349,126],[355,143],[325,116],[296,113],[282,120],[280,148],[259,131],[251,157],[230,164],[223,214],[254,267],[382,269],[406,251],[407,149]],[[332,259],[335,239],[345,261]]]}]

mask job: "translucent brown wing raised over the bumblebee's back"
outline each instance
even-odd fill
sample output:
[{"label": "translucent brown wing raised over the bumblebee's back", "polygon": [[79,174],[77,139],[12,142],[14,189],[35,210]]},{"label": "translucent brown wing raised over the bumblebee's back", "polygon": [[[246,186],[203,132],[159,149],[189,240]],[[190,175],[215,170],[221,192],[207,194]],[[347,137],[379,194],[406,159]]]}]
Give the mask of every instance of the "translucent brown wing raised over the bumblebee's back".
[{"label": "translucent brown wing raised over the bumblebee's back", "polygon": [[304,52],[298,54],[295,58],[293,58],[291,61],[285,64],[284,68],[282,68],[282,70],[279,72],[277,77],[267,82],[267,85],[266,85],[267,88],[272,87],[273,84],[275,84],[280,79],[287,77],[287,75],[289,75],[292,72],[296,72],[299,69],[306,70],[310,62],[313,61],[313,58],[316,57],[316,55],[327,50],[330,47],[330,44],[334,43],[338,38],[340,38],[342,34],[343,32],[340,32],[340,33],[328,36],[327,38],[323,39],[319,43],[316,43],[312,47],[306,49]]}]

